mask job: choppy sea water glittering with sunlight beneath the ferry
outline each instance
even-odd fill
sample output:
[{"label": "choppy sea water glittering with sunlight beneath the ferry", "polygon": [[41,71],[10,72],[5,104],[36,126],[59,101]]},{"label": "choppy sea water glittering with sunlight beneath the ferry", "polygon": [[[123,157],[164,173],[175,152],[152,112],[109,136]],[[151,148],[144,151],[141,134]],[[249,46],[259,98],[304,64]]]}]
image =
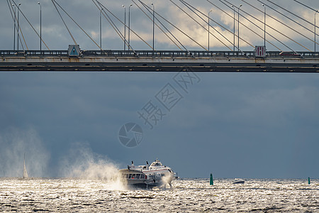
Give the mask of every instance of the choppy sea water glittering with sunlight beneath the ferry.
[{"label": "choppy sea water glittering with sunlight beneath the ferry", "polygon": [[0,178],[0,212],[319,212],[319,180],[174,180],[174,189],[128,189],[75,178]]}]

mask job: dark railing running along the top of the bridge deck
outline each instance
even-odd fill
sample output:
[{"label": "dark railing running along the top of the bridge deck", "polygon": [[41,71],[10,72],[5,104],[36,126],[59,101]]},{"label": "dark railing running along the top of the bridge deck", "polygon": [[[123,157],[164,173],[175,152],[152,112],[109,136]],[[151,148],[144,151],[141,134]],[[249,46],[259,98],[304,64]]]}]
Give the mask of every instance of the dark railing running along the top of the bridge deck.
[{"label": "dark railing running along the top of the bridge deck", "polygon": [[[254,51],[177,51],[177,50],[82,50],[83,56],[113,56],[113,57],[223,57],[223,58],[254,58]],[[67,57],[67,50],[0,50],[0,56],[43,56],[43,57]],[[266,58],[319,58],[319,52],[279,52],[267,51]]]}]

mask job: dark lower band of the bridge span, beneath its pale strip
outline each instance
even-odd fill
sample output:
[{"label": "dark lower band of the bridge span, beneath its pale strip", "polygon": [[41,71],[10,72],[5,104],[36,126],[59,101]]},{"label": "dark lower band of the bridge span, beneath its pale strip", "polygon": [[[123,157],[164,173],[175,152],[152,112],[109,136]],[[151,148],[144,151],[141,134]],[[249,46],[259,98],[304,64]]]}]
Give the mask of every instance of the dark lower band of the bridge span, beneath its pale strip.
[{"label": "dark lower band of the bridge span, beneath its pale strip", "polygon": [[196,62],[15,62],[1,63],[0,71],[101,72],[319,72],[313,64],[196,63]]}]

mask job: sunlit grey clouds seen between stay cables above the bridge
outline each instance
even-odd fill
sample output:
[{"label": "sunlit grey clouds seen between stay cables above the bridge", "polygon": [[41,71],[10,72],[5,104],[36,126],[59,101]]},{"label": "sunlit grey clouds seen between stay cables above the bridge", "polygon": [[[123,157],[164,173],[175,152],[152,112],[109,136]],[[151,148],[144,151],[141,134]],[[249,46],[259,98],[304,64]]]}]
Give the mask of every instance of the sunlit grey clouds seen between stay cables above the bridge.
[{"label": "sunlit grey clouds seen between stay cables above the bridge", "polygon": [[[17,3],[19,1],[16,1]],[[64,9],[69,13],[72,18],[74,18],[77,23],[79,23],[84,30],[89,33],[89,35],[96,40],[97,43],[99,43],[99,9],[96,8],[96,6],[92,3],[92,1],[57,1]],[[138,2],[138,1],[135,1]],[[145,4],[148,6],[151,6],[151,1],[147,0],[144,1]],[[179,1],[174,1],[179,6],[181,6],[183,9],[188,11],[191,16],[196,18],[198,21],[200,21],[204,26],[207,26],[207,23],[205,23],[203,20],[198,18],[194,13],[189,11],[185,6],[181,4]],[[259,19],[263,19],[263,14],[260,11],[257,11],[256,9],[252,9],[249,5],[245,4],[243,1],[231,1],[235,6],[243,4],[242,10],[247,11],[251,13],[253,16]],[[21,1],[21,10],[30,20],[30,23],[33,24],[35,29],[39,31],[39,25],[40,25],[40,7],[38,6],[38,0],[24,0]],[[52,1],[49,0],[42,0],[40,1],[43,7],[43,40],[47,43],[50,49],[66,49],[67,45],[72,44],[72,38],[67,33],[67,29],[63,25],[60,16],[58,15],[57,11],[55,10],[55,7],[52,4]],[[130,6],[130,4],[133,4],[133,1],[101,1],[102,4],[104,4],[107,9],[110,9],[112,13],[114,13],[118,18],[120,18],[123,21],[124,18],[124,9],[122,7],[122,4],[124,4],[127,8]],[[213,18],[215,21],[218,21],[218,23],[222,23],[223,26],[228,28],[229,31],[233,31],[233,20],[232,17],[226,15],[219,9],[217,9],[215,6],[208,3],[208,1],[196,1],[196,4],[192,1],[189,1],[190,4],[194,4],[196,8],[203,11],[203,13],[208,13],[209,9],[213,9],[213,13],[211,14],[211,18]],[[256,6],[259,9],[262,9],[261,3],[259,1],[250,1],[250,3],[254,6]],[[303,1],[304,4],[307,4],[310,7],[313,7],[313,9],[316,8],[315,1]],[[182,11],[177,9],[177,7],[173,6],[173,4],[170,3],[170,1],[159,1],[154,2],[156,11],[167,18],[169,21],[174,23],[175,25],[179,26],[181,30],[185,31],[186,33],[189,33],[191,36],[193,36],[196,40],[198,40],[199,43],[202,45],[206,45],[207,40],[207,33],[205,30],[203,30],[201,27],[199,27],[194,21],[191,20],[186,14],[184,14]],[[233,11],[229,9],[227,6],[220,3],[220,1],[214,1],[214,4],[217,4],[221,9],[227,11],[228,13],[233,16]],[[286,13],[282,9],[279,9],[279,7],[274,6],[273,4],[269,3],[267,1],[267,4],[269,6],[272,6],[272,8],[277,9],[281,12]],[[288,9],[289,11],[292,11],[296,13],[298,16],[301,16],[305,18],[308,22],[313,23],[314,19],[314,13],[310,9],[306,8],[305,6],[302,6],[301,4],[297,4],[295,1],[291,2],[289,0],[281,1],[278,3],[279,6],[284,6],[284,8]],[[140,4],[139,4],[140,5]],[[8,6],[6,4],[6,1],[0,2],[0,11],[1,11],[1,32],[0,32],[0,38],[2,40],[1,42],[1,49],[10,49],[13,48],[13,21],[11,18],[11,15],[9,13]],[[296,25],[296,23],[293,23],[289,21],[289,19],[284,18],[284,16],[281,16],[279,13],[276,13],[273,9],[268,8],[267,14],[272,15],[279,20],[283,21],[284,23],[288,23],[292,28],[295,28],[296,31],[303,32],[308,38],[305,38],[301,35],[299,35],[296,32],[293,32],[291,30],[288,30],[284,26],[281,26],[279,23],[276,23],[276,21],[272,20],[272,18],[267,18],[267,23],[269,25],[273,26],[274,28],[279,29],[284,34],[291,37],[293,40],[296,40],[296,42],[301,43],[301,45],[298,45],[297,43],[293,42],[292,40],[289,40],[288,38],[284,37],[283,35],[278,35],[270,30],[270,28],[267,28],[267,31],[269,33],[272,32],[274,37],[280,38],[281,42],[284,42],[289,47],[293,48],[294,50],[306,50],[306,48],[313,50],[313,26],[310,23],[307,23],[306,21],[301,21],[301,19],[296,18],[296,16],[293,16],[289,13],[286,13],[287,16],[294,18],[298,23],[301,23],[301,25],[306,26],[310,29],[310,31],[307,31],[304,28],[301,28],[301,26]],[[150,14],[149,14],[150,15]],[[67,17],[65,13],[62,12],[62,16],[65,17],[65,21],[67,23],[67,26],[70,28],[70,31],[72,31],[72,34],[74,35],[74,38],[77,40],[77,43],[82,47],[82,49],[98,49],[98,47]],[[128,16],[127,16],[128,17]],[[249,16],[245,15],[245,17],[249,18]],[[121,24],[119,21],[116,20],[116,18],[112,17],[114,23],[116,23],[116,26],[123,32],[123,24]],[[139,35],[142,36],[148,43],[152,43],[152,21],[150,21],[144,13],[138,9],[135,4],[131,7],[131,28],[133,31],[136,31]],[[253,21],[252,18],[250,20]],[[163,21],[163,20],[161,20]],[[245,21],[244,18],[241,18],[241,21]],[[254,21],[257,23],[256,21]],[[163,21],[165,23],[165,21]],[[165,23],[167,28],[169,28],[178,38],[181,40],[184,45],[189,46],[189,49],[201,49],[198,47],[198,45],[194,45],[191,40],[186,38],[184,35],[181,35],[176,29],[174,29],[169,24]],[[249,28],[252,28],[253,31],[259,33],[263,37],[262,30],[256,28],[255,26],[252,26],[247,21],[245,21],[245,24]],[[219,26],[216,23],[213,23],[213,26],[219,29]],[[259,23],[259,26],[262,27],[262,24]],[[36,35],[33,30],[30,28],[26,20],[21,16],[21,28],[23,29],[24,36],[26,38],[26,42],[28,44],[29,49],[38,49],[39,48],[39,38],[38,35]],[[245,38],[245,40],[248,40],[252,45],[259,45],[263,43],[263,39],[259,38],[257,35],[249,31],[244,26],[241,26],[241,36]],[[219,29],[222,33],[228,36],[228,39],[233,40],[233,36],[230,35],[229,32],[225,31],[224,29]],[[212,29],[212,32],[213,31]],[[178,50],[177,46],[175,46],[171,41],[169,41],[164,34],[159,31],[159,29],[156,29],[156,47],[159,50],[167,50],[167,49],[175,49]],[[217,35],[217,33],[216,33]],[[220,37],[218,35],[218,37]],[[288,50],[286,47],[281,45],[279,42],[276,42],[273,38],[270,38],[270,36],[267,36],[269,40],[274,43],[274,45],[278,46],[282,50]],[[221,37],[220,37],[221,38]],[[150,49],[145,43],[143,43],[141,40],[136,38],[136,36],[131,33],[131,39],[132,39],[132,45],[133,48],[136,50],[145,50]],[[228,50],[223,46],[221,43],[219,43],[216,39],[212,37],[211,39],[211,45],[212,48],[215,50]],[[230,45],[228,43],[228,45]],[[242,42],[242,48],[244,50],[252,50],[252,47]],[[303,46],[306,48],[303,48]],[[231,46],[231,45],[230,45]],[[123,40],[118,37],[116,32],[113,30],[111,25],[103,18],[103,48],[105,49],[112,49],[112,50],[121,50],[123,47]],[[268,50],[278,50],[273,45],[267,45]]]}]

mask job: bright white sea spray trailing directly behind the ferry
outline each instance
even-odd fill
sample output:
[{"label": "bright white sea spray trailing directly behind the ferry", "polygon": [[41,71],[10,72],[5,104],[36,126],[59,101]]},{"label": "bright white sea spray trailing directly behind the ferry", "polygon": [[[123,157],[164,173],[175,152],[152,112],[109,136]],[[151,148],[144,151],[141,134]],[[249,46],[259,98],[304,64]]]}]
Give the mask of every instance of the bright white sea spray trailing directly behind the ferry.
[{"label": "bright white sea spray trailing directly behind the ferry", "polygon": [[104,155],[94,153],[89,143],[73,143],[60,162],[60,175],[65,178],[106,180],[108,190],[126,190],[116,163]]}]

